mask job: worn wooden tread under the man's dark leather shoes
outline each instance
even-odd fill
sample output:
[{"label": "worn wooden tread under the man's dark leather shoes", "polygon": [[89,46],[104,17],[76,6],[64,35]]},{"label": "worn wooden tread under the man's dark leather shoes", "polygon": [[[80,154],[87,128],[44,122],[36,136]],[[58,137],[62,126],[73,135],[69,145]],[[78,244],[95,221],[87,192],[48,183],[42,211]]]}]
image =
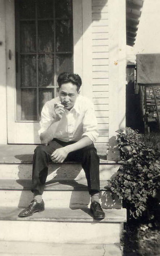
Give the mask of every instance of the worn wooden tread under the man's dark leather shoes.
[{"label": "worn wooden tread under the man's dark leather shoes", "polygon": [[0,207],[0,220],[16,221],[52,221],[52,222],[101,222],[101,223],[121,223],[126,221],[126,209],[104,209],[105,219],[94,220],[90,209],[79,208],[45,208],[44,211],[36,212],[27,218],[18,218],[21,209],[17,207]]}]

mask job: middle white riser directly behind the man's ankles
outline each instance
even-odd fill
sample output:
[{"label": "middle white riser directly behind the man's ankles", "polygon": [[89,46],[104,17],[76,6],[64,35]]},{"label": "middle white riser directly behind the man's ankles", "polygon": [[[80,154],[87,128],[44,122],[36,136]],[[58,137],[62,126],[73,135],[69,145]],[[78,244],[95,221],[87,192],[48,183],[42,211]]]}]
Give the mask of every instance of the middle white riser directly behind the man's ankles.
[{"label": "middle white riser directly behind the man's ankles", "polygon": [[[2,207],[25,208],[33,199],[33,193],[29,190],[0,190],[0,205]],[[46,208],[56,207],[88,207],[90,195],[88,191],[44,191],[43,200]],[[110,191],[101,191],[100,203],[103,208],[122,207],[121,200],[113,200]]]}]

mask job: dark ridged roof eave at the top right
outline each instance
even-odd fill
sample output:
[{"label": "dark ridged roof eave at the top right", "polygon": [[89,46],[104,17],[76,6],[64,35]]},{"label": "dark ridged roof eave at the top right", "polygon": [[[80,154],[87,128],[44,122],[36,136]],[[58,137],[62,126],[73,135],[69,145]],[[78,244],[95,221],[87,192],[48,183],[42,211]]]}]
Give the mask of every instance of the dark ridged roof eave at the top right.
[{"label": "dark ridged roof eave at the top right", "polygon": [[141,17],[144,0],[126,0],[127,45],[133,46]]}]

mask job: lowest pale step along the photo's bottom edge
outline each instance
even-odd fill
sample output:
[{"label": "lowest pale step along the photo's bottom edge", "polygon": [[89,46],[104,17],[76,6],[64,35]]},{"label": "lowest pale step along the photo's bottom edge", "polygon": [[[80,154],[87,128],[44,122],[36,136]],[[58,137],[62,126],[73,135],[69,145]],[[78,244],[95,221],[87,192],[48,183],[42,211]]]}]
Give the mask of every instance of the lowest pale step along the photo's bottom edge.
[{"label": "lowest pale step along the photo's bottom edge", "polygon": [[3,256],[122,256],[113,244],[55,244],[44,242],[0,241]]}]

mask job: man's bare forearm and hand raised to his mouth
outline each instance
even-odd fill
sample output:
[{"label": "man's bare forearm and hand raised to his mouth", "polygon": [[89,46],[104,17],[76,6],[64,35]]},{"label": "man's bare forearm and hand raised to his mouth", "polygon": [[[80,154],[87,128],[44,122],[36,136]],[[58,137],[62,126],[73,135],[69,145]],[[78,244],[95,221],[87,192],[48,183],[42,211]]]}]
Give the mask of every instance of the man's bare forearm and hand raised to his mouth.
[{"label": "man's bare forearm and hand raised to his mouth", "polygon": [[40,141],[41,144],[43,145],[48,145],[48,143],[53,140],[54,134],[57,130],[57,126],[59,124],[60,119],[62,118],[62,114],[64,112],[64,106],[60,103],[57,102],[54,107],[55,111],[55,118],[48,127],[47,130],[45,130],[43,133],[40,134]]}]

